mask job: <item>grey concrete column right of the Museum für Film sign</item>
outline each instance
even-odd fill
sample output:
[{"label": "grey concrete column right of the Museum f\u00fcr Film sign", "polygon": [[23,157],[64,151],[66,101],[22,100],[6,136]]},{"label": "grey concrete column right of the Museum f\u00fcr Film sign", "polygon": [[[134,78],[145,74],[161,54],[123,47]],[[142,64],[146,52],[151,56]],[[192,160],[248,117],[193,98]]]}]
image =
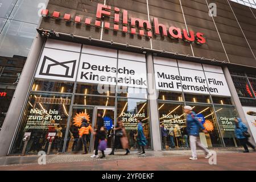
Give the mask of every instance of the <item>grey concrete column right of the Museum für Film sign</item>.
[{"label": "grey concrete column right of the Museum f\u00fcr Film sign", "polygon": [[[237,91],[236,91],[236,88],[234,86],[234,83],[233,83],[233,80],[232,80],[232,77],[229,73],[229,69],[228,67],[222,67],[223,68],[223,71],[224,71],[224,75],[226,77],[226,82],[228,83],[229,85],[229,90],[230,90],[230,93],[231,93],[231,96],[233,98],[233,101],[234,101],[234,105],[236,106],[236,109],[237,109],[237,112],[238,112],[238,115],[239,117],[242,119],[242,122],[245,123],[245,125],[247,126],[248,128],[248,132],[250,133],[251,136],[253,136],[251,134],[251,130],[250,130],[250,127],[248,125],[248,122],[247,122],[247,119],[246,119],[246,116],[245,116],[245,112],[243,111],[243,108],[242,108],[242,104],[240,102],[240,99],[238,97],[238,94],[237,94]],[[251,143],[254,144],[255,146],[255,142],[253,140],[253,137],[249,138],[249,141]]]}]

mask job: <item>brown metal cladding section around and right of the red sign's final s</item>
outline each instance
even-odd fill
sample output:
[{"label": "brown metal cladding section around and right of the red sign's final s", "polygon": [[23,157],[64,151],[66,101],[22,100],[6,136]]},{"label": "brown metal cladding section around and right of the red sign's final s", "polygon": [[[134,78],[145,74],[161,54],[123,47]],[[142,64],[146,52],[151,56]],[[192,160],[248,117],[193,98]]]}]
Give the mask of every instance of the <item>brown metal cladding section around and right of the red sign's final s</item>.
[{"label": "brown metal cladding section around and right of the red sign's final s", "polygon": [[220,37],[217,34],[212,17],[209,16],[209,9],[206,1],[181,0],[185,20],[189,30],[194,32],[204,32],[207,43],[198,46],[192,44],[195,56],[208,59],[228,60]]}]

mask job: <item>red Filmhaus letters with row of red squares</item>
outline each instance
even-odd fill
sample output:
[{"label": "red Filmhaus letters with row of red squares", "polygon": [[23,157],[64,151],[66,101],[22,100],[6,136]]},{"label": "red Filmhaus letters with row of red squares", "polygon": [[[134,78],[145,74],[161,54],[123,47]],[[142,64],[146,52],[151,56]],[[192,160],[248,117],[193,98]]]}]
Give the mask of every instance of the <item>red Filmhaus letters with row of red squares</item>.
[{"label": "red Filmhaus letters with row of red squares", "polygon": [[[112,10],[111,6],[107,5],[102,5],[98,3],[97,6],[97,13],[96,13],[96,20],[94,23],[94,26],[96,27],[101,27],[101,20],[102,17],[104,16],[111,16]],[[122,15],[120,13],[120,9],[118,7],[114,7],[114,25],[113,25],[113,30],[114,31],[122,31],[127,33],[128,32],[128,12],[127,10],[122,10]],[[42,10],[42,16],[49,16],[49,10]],[[120,22],[119,18],[122,16],[122,22]],[[60,18],[60,12],[53,11],[52,13],[52,18],[59,19]],[[67,22],[71,21],[71,14],[64,14],[63,19]],[[81,16],[75,16],[73,17],[75,23],[80,24],[82,22],[82,17]],[[143,20],[139,18],[130,18],[130,29],[129,32],[130,34],[138,34],[140,36],[147,36],[149,38],[152,37],[152,27],[151,23],[148,20]],[[92,25],[92,19],[90,18],[85,18],[84,23],[86,26]],[[122,23],[122,30],[119,30],[119,25]],[[204,34],[201,32],[193,32],[193,31],[187,31],[186,29],[177,28],[177,27],[166,27],[164,24],[159,23],[158,18],[154,17],[154,34],[155,35],[162,35],[162,36],[169,36],[170,38],[173,39],[181,39],[184,40],[185,42],[193,43],[195,42],[196,44],[205,44],[206,39],[204,38]],[[139,32],[137,32],[137,27],[139,28]],[[106,20],[104,21],[104,28],[109,29],[110,28],[110,22],[107,22]],[[146,31],[146,32],[145,32]]]}]

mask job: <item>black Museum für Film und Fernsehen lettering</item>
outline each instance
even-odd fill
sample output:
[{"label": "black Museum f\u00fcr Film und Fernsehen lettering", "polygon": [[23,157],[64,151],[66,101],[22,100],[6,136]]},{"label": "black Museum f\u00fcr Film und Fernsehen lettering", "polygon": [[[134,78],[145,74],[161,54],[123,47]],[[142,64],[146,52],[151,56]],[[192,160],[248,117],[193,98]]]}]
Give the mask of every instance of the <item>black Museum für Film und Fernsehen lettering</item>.
[{"label": "black Museum f\u00fcr Film und Fernsehen lettering", "polygon": [[[198,85],[193,85],[193,82],[200,83],[200,84],[207,84],[206,79],[202,78],[200,76],[195,76],[195,77],[189,77],[189,76],[178,76],[178,75],[169,75],[166,73],[160,73],[157,72],[158,78],[163,78],[166,80],[176,80],[176,81],[184,81],[184,82],[191,82],[191,85],[186,85],[186,84],[181,84],[181,82],[176,82],[176,85],[174,84],[173,81],[171,82],[158,82],[158,86],[160,88],[170,88],[174,89],[175,86],[177,89],[183,89],[186,91],[201,91],[201,92],[212,92],[212,93],[218,93],[217,88],[212,88],[203,85],[203,86],[198,86]],[[217,86],[224,86],[222,81],[218,81],[215,78],[208,78],[208,83],[209,85],[217,85]]]}]

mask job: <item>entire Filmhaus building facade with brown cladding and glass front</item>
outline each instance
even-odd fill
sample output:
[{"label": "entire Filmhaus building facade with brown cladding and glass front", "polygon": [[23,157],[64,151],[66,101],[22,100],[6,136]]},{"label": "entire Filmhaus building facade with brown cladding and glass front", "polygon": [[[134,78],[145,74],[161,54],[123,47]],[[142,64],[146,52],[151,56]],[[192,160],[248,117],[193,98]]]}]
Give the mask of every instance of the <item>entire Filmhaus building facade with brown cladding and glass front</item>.
[{"label": "entire Filmhaus building facade with brown cladding and glass front", "polygon": [[200,140],[209,148],[240,146],[236,117],[256,139],[255,9],[208,0],[50,0],[40,13],[1,155],[72,152],[81,118],[94,126],[98,113],[109,147],[121,120],[137,150],[140,120],[148,150],[189,148],[184,105],[208,130]]}]

